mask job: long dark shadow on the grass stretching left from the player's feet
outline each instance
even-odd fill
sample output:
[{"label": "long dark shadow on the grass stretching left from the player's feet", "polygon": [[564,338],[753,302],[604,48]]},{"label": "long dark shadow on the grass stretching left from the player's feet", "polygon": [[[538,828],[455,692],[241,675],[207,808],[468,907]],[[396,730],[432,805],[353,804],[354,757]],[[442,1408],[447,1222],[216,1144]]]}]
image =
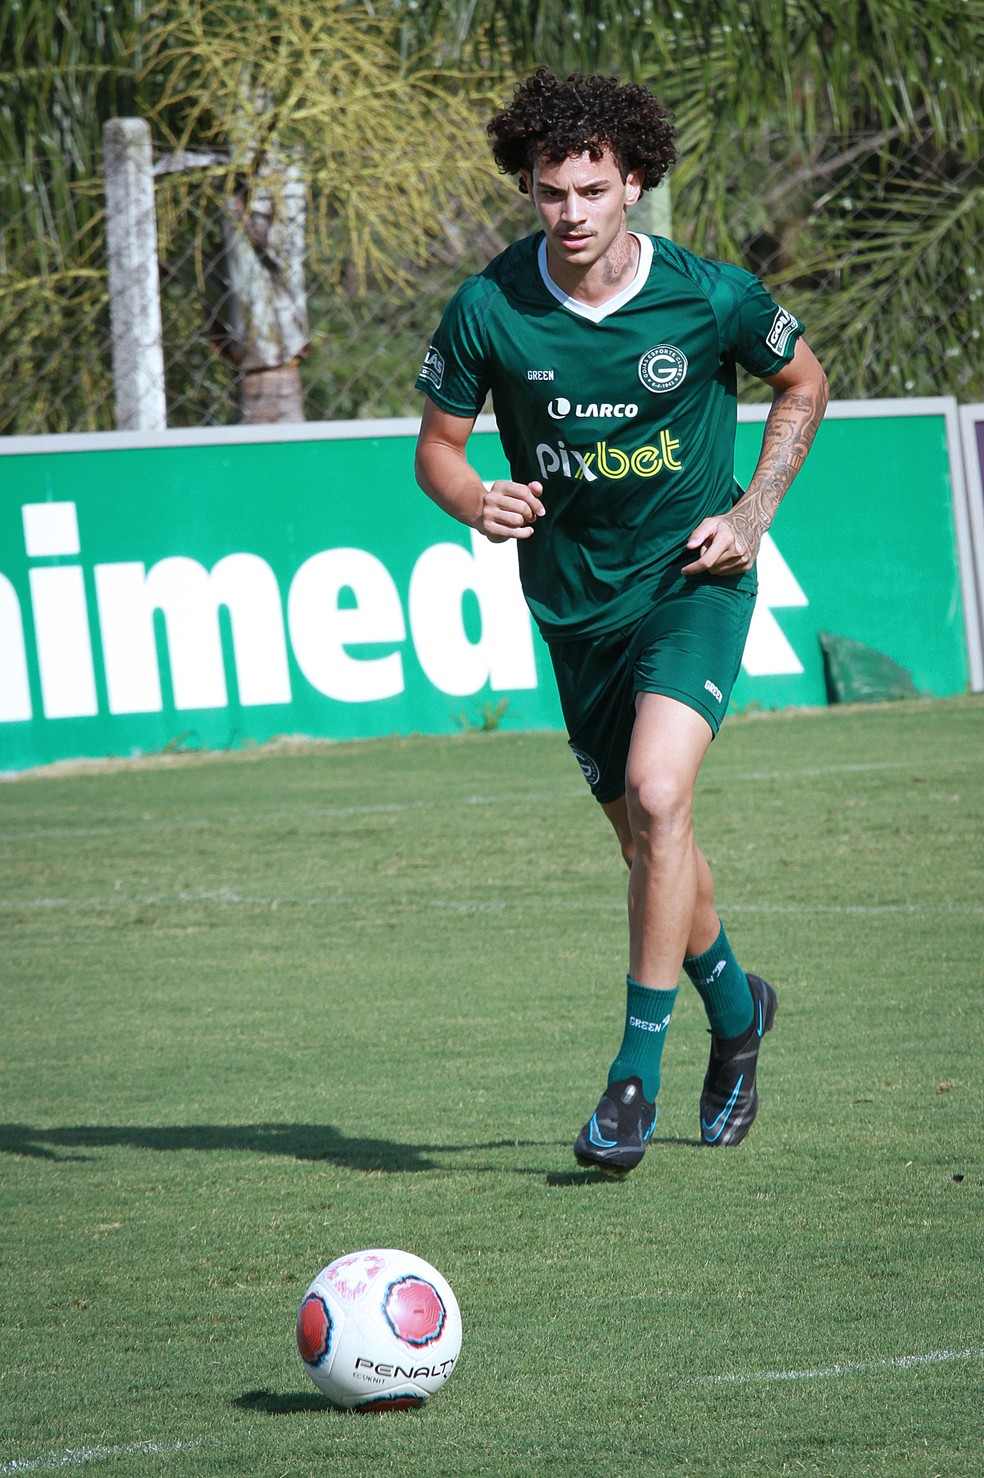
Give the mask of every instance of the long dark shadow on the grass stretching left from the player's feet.
[{"label": "long dark shadow on the grass stretching left from the player's feet", "polygon": [[93,1156],[84,1151],[120,1145],[157,1151],[233,1150],[282,1154],[293,1160],[324,1160],[350,1171],[405,1172],[440,1169],[440,1162],[433,1159],[437,1154],[547,1148],[553,1147],[553,1141],[400,1144],[394,1140],[356,1138],[325,1123],[72,1125],[52,1129],[35,1129],[25,1123],[0,1125],[0,1154],[21,1154],[37,1160],[90,1160]]}]

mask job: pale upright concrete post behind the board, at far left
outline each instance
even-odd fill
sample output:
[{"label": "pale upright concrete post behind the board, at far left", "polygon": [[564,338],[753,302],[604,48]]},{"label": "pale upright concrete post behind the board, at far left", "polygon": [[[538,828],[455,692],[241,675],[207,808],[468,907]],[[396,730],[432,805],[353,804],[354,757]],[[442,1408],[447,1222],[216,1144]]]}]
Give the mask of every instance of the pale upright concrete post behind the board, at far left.
[{"label": "pale upright concrete post behind the board, at far left", "polygon": [[133,432],[167,426],[152,166],[148,124],[111,118],[102,130],[102,167],[112,378],[117,426]]}]

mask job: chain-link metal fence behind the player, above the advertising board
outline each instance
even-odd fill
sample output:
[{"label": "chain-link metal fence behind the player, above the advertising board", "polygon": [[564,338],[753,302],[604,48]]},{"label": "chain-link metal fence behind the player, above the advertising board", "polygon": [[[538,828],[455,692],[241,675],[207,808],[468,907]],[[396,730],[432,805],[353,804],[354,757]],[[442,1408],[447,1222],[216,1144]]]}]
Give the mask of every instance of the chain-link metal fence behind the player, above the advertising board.
[{"label": "chain-link metal fence behind the player, above the advertising board", "polygon": [[[863,137],[799,154],[786,139],[734,140],[733,191],[702,197],[681,167],[674,236],[762,276],[808,325],[835,396],[956,395],[984,399],[984,161],[907,146],[875,155]],[[99,163],[55,198],[44,174],[0,170],[0,433],[108,430],[114,386]],[[40,180],[40,183],[38,183]],[[749,188],[752,185],[754,188]],[[236,183],[214,158],[157,161],[167,418],[241,418],[242,368],[230,321],[223,211]],[[319,211],[307,182],[307,219]],[[402,285],[361,287],[344,238],[328,228],[304,248],[309,347],[304,415],[408,415],[423,347],[461,278],[532,226],[510,182],[495,225],[443,222],[426,268]],[[260,248],[257,247],[257,251]],[[749,381],[743,393],[761,393]]]}]

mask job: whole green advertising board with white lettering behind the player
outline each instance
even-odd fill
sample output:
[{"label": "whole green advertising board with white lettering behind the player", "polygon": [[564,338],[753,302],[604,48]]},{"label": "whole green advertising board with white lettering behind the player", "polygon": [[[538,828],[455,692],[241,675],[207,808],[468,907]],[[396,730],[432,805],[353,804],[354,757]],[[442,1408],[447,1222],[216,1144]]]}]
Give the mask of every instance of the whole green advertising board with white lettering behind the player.
[{"label": "whole green advertising board with white lettering behind the player", "polygon": [[[762,550],[737,706],[823,704],[821,630],[885,652],[923,692],[968,686],[950,406],[915,405],[824,423]],[[0,442],[0,769],[288,733],[561,727],[514,545],[417,489],[414,435]],[[759,440],[745,420],[739,476]],[[473,460],[505,473],[491,418]]]}]

